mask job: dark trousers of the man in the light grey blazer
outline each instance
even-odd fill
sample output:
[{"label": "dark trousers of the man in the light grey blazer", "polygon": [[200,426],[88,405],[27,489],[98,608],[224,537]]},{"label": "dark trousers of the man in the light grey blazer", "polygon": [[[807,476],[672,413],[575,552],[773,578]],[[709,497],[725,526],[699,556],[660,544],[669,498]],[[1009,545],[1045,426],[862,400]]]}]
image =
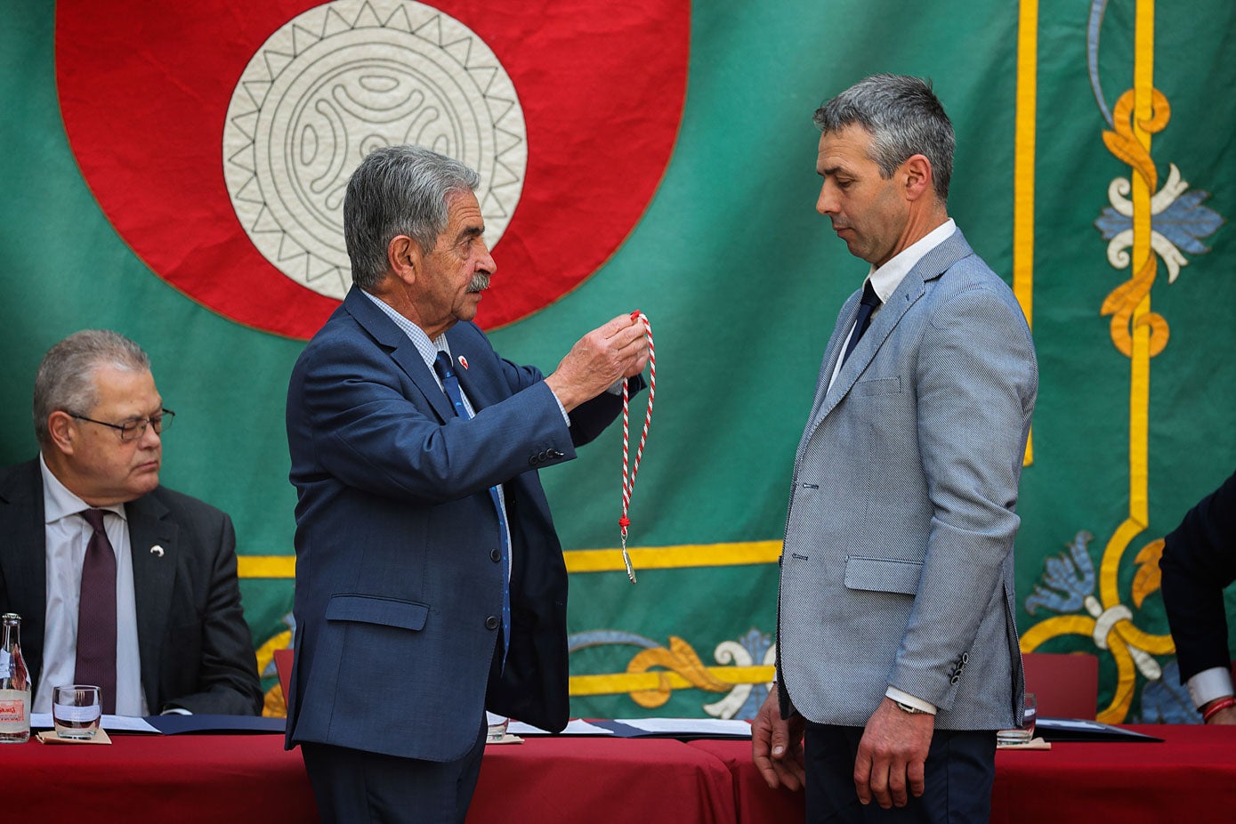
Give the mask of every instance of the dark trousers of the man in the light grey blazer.
[{"label": "dark trousers of the man in the light grey blazer", "polygon": [[[808,824],[986,824],[996,775],[996,735],[936,730],[926,763],[926,789],[905,807],[861,804],[854,791],[854,761],[861,726],[807,724]],[[908,793],[908,789],[907,789]]]}]

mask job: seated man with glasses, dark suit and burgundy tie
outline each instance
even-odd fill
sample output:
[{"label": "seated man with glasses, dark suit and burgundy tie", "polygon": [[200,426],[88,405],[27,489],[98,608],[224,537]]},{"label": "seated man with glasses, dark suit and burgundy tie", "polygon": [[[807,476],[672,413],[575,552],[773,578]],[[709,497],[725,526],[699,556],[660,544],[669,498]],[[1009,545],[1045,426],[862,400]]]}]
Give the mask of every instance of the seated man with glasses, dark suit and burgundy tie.
[{"label": "seated man with glasses, dark suit and burgundy tie", "polygon": [[35,378],[40,456],[0,469],[0,613],[22,618],[36,713],[98,684],[105,713],[262,709],[231,519],[161,487],[173,413],[150,358],[87,330]]}]

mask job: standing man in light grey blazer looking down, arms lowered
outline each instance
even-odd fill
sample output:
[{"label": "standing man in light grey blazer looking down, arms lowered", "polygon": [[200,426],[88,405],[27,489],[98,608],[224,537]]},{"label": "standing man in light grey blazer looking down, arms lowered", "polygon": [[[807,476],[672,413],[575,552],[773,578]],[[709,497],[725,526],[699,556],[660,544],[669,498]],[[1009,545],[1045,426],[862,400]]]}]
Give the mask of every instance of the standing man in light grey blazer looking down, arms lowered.
[{"label": "standing man in light grey blazer looking down, arms lowered", "polygon": [[806,786],[811,822],[981,822],[994,730],[1025,692],[1012,549],[1030,329],[947,214],[954,136],[928,83],[866,78],[815,121],[816,210],[871,268],[795,460],[777,684],[753,756],[770,786]]}]

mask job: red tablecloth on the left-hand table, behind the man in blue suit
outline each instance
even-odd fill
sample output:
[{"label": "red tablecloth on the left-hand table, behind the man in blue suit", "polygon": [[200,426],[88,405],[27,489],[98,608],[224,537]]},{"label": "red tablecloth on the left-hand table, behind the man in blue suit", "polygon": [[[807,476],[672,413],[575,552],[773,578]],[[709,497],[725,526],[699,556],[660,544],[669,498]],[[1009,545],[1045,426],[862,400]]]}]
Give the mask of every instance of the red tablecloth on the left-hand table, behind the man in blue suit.
[{"label": "red tablecloth on the left-hand table, behind the man in blue suit", "polygon": [[[111,745],[0,745],[7,820],[316,822],[282,735],[114,735]],[[666,739],[529,738],[489,746],[468,824],[737,824],[729,770]]]}]

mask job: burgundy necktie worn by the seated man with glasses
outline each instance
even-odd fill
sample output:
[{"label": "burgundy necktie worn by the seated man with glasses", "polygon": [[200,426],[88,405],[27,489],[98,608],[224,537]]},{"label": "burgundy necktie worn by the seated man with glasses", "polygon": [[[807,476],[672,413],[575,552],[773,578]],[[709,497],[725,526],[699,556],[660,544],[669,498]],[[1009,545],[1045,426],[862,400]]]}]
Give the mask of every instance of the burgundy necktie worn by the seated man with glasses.
[{"label": "burgundy necktie worn by the seated man with glasses", "polygon": [[73,681],[96,684],[103,712],[116,712],[116,553],[103,529],[103,510],[87,509],[82,518],[94,528],[82,563],[78,604],[78,654]]}]

